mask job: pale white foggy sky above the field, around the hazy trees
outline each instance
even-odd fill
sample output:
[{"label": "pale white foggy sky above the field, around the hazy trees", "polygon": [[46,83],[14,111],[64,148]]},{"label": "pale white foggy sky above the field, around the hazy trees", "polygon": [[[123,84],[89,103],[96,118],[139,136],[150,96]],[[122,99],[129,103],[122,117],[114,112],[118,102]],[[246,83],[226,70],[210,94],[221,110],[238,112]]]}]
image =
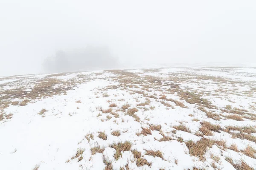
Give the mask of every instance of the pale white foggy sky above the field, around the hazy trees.
[{"label": "pale white foggy sky above the field, around the hazy trees", "polygon": [[110,68],[256,63],[255,30],[255,0],[1,0],[0,76],[49,72],[47,58],[88,46],[107,47]]}]

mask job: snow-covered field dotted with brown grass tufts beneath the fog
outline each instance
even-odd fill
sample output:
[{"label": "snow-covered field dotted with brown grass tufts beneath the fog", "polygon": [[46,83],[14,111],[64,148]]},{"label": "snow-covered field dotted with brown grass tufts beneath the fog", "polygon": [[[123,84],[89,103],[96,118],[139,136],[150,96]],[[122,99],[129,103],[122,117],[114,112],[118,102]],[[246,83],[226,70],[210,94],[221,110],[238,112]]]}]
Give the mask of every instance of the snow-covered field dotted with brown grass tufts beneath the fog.
[{"label": "snow-covered field dotted with brown grass tufts beneath the fog", "polygon": [[256,68],[0,77],[0,170],[253,168]]}]

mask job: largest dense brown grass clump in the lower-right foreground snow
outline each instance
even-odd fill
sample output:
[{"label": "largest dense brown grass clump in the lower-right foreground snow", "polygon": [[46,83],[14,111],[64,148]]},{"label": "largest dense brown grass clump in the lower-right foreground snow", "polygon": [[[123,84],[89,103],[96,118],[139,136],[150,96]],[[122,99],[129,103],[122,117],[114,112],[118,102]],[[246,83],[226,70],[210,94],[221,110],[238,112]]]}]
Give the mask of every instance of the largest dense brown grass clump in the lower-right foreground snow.
[{"label": "largest dense brown grass clump in the lower-right foreground snow", "polygon": [[200,160],[205,160],[204,154],[207,147],[212,147],[215,141],[203,138],[198,142],[193,142],[192,140],[186,142],[186,146],[189,148],[189,153],[192,156],[198,157]]}]

